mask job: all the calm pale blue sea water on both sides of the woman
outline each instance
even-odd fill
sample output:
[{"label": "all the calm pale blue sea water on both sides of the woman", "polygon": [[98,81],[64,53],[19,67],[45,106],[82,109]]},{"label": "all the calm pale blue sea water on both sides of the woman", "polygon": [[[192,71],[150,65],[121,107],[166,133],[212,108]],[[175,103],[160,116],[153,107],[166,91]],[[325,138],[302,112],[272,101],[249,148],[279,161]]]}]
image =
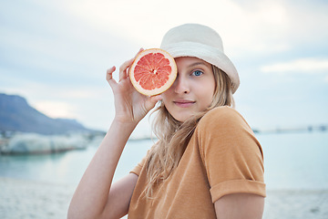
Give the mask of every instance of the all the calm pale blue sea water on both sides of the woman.
[{"label": "all the calm pale blue sea water on both sides of the woman", "polygon": [[[257,134],[268,190],[328,190],[328,132]],[[100,141],[94,142],[98,145]],[[128,174],[153,141],[128,141],[114,181]],[[96,146],[47,155],[0,155],[0,177],[77,185]]]}]

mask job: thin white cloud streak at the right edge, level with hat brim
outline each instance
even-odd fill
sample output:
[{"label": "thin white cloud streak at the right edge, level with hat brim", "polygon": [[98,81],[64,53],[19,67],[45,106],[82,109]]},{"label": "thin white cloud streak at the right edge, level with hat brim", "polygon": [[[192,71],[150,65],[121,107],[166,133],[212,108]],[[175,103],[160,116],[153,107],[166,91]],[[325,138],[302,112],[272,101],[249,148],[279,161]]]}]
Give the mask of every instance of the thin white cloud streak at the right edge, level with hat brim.
[{"label": "thin white cloud streak at the right edge, level with hat brim", "polygon": [[260,70],[264,73],[328,73],[328,58],[299,58],[289,62],[262,66]]}]

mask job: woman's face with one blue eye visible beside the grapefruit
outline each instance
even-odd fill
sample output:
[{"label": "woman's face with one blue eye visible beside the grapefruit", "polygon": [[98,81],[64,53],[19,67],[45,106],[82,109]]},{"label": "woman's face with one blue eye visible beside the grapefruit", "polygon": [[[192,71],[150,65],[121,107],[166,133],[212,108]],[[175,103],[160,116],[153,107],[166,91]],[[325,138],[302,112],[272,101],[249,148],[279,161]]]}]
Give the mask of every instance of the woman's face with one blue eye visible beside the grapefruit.
[{"label": "woman's face with one blue eye visible beside the grapefruit", "polygon": [[210,106],[215,80],[211,65],[200,58],[177,57],[175,61],[178,76],[173,85],[162,93],[162,101],[169,114],[183,122]]}]

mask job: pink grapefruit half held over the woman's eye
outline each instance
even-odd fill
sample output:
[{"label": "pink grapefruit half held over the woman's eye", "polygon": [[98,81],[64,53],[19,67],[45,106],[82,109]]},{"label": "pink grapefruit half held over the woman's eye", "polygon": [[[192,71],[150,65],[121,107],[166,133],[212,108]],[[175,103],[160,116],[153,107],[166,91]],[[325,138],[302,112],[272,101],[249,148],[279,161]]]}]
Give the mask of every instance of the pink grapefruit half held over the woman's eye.
[{"label": "pink grapefruit half held over the woman's eye", "polygon": [[129,78],[139,93],[154,96],[169,89],[177,72],[174,58],[167,51],[150,48],[137,55],[129,68]]}]

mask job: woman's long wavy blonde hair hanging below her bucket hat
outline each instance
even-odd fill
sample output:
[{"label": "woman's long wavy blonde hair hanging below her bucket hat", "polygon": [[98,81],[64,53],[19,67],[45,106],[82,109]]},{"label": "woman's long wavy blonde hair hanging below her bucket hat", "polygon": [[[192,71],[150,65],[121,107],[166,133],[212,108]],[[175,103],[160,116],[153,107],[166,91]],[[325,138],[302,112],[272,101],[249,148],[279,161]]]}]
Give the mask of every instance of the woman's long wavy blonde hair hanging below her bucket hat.
[{"label": "woman's long wavy blonde hair hanging below her bucket hat", "polygon": [[234,107],[231,79],[220,68],[212,66],[215,90],[210,107],[185,122],[175,120],[163,102],[154,111],[153,131],[159,141],[150,149],[146,162],[148,184],[144,193],[152,197],[155,186],[164,182],[178,166],[198,122],[207,111],[219,106]]}]

